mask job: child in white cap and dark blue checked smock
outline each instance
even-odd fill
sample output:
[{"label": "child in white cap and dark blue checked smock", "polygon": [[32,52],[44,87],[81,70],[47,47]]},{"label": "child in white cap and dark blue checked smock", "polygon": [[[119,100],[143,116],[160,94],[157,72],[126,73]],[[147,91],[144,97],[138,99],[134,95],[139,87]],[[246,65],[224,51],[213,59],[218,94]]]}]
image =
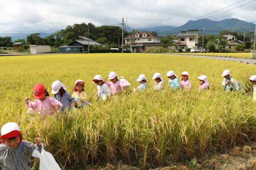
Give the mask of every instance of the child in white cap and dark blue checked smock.
[{"label": "child in white cap and dark blue checked smock", "polygon": [[62,103],[62,111],[66,113],[67,109],[70,111],[71,109],[71,102],[72,106],[75,106],[75,100],[70,96],[68,92],[66,92],[67,88],[64,86],[59,80],[52,83],[52,94],[56,100]]}]

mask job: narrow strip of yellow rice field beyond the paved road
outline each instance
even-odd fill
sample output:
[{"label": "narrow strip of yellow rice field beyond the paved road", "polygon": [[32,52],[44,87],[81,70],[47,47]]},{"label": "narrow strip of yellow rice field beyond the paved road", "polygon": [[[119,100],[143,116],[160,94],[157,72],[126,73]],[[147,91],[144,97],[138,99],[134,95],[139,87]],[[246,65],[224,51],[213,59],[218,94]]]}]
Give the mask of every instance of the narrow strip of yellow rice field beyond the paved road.
[{"label": "narrow strip of yellow rice field beyond the paved road", "polygon": [[233,57],[247,59],[251,58],[251,53],[174,53],[174,54],[189,54],[189,55],[207,55],[216,57]]}]

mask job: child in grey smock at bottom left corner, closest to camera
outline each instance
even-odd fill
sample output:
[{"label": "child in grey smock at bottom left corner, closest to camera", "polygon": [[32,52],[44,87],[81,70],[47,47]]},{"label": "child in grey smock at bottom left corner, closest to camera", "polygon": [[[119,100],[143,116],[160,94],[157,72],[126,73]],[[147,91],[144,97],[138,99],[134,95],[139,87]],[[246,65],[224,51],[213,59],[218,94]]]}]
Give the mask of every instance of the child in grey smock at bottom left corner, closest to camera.
[{"label": "child in grey smock at bottom left corner, closest to camera", "polygon": [[[36,138],[35,143],[22,141],[20,127],[9,122],[1,129],[2,144],[0,144],[0,164],[2,170],[30,170],[32,163],[30,155],[35,149],[41,152],[42,139]],[[39,147],[39,148],[38,148]]]}]

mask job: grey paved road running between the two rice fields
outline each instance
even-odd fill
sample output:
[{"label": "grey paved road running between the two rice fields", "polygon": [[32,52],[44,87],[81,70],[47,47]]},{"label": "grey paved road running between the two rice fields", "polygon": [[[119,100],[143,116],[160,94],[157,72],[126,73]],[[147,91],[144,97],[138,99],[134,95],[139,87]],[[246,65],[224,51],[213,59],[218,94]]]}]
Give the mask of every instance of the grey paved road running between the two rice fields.
[{"label": "grey paved road running between the two rice fields", "polygon": [[246,64],[256,64],[256,59],[238,59],[238,58],[229,58],[229,57],[214,57],[214,56],[199,56],[199,55],[189,55],[189,54],[169,54],[169,55],[180,55],[184,57],[196,57],[196,58],[209,58],[209,59],[217,59],[217,60],[225,60],[225,61],[237,61],[239,63]]}]

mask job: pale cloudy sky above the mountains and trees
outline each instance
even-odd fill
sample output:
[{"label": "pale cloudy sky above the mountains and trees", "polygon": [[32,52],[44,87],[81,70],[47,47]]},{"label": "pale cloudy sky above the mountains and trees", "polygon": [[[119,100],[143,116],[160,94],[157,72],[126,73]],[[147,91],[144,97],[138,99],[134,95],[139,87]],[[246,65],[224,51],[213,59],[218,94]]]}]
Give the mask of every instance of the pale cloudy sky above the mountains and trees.
[{"label": "pale cloudy sky above the mountains and trees", "polygon": [[[74,23],[132,28],[238,18],[256,23],[256,0],[0,0],[0,34],[50,33]],[[232,4],[236,5],[230,6]],[[230,6],[228,8],[225,8]],[[225,8],[223,10],[220,10]],[[207,15],[216,10],[216,13]],[[206,15],[206,16],[204,16]],[[199,18],[200,16],[204,16]]]}]

